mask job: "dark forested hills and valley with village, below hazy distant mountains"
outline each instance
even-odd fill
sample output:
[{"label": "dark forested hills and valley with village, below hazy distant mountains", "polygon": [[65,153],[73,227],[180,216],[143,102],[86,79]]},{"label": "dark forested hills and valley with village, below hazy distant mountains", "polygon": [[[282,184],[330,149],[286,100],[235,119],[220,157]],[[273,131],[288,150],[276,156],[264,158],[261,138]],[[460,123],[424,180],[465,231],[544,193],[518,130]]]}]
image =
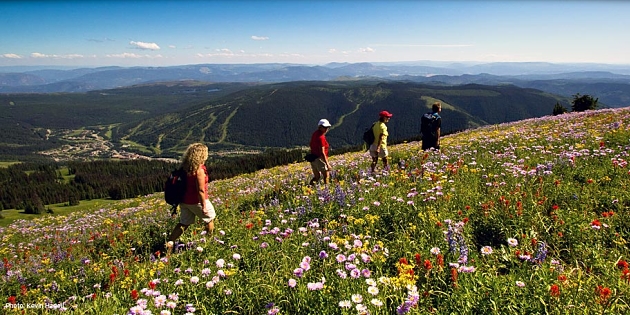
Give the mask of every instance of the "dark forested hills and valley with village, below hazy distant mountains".
[{"label": "dark forested hills and valley with village, below hazy distant mountains", "polygon": [[[334,149],[361,143],[386,109],[390,140],[418,136],[419,117],[443,106],[443,131],[540,117],[569,101],[512,85],[444,86],[393,81],[278,84],[162,82],[89,93],[0,94],[0,160],[178,157],[192,142],[213,154],[307,145],[320,118]],[[131,156],[133,158],[133,156]]]}]

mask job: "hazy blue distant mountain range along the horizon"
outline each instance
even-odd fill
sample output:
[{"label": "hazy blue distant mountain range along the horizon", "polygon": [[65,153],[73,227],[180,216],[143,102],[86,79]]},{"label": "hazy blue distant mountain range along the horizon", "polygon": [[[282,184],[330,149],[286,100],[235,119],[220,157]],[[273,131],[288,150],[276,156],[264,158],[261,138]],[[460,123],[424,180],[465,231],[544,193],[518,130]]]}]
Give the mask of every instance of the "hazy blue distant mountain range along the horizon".
[{"label": "hazy blue distant mountain range along the horizon", "polygon": [[82,93],[162,81],[277,83],[379,79],[436,85],[512,84],[570,97],[599,98],[610,107],[630,105],[630,65],[544,62],[300,64],[199,64],[171,67],[0,67],[0,93]]}]

